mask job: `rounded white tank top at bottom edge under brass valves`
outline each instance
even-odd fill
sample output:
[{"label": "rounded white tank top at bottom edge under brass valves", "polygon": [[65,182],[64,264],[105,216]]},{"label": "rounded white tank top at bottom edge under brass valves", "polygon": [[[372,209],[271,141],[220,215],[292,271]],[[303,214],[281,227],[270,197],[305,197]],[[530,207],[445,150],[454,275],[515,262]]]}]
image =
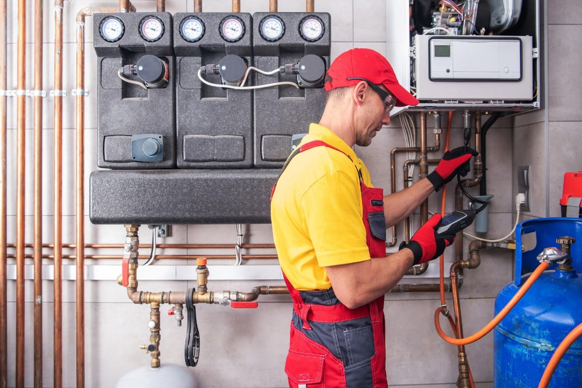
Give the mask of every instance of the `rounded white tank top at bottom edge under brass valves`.
[{"label": "rounded white tank top at bottom edge under brass valves", "polygon": [[190,369],[175,364],[162,363],[159,368],[140,366],[127,372],[115,388],[200,388],[198,379]]}]

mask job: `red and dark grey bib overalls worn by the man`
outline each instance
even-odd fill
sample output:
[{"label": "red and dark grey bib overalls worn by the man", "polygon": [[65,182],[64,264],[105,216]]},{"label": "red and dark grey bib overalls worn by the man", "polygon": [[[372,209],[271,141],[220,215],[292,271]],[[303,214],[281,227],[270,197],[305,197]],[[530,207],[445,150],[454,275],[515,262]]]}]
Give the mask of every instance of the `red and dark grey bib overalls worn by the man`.
[{"label": "red and dark grey bib overalls worn by the man", "polygon": [[[293,156],[319,146],[343,153],[323,141],[311,141],[293,152],[283,170]],[[385,257],[383,191],[365,186],[359,169],[358,174],[370,257]],[[276,183],[272,192],[275,187]],[[285,362],[289,387],[388,387],[384,296],[349,309],[336,298],[333,289],[298,291],[283,276],[293,299],[289,354]]]}]

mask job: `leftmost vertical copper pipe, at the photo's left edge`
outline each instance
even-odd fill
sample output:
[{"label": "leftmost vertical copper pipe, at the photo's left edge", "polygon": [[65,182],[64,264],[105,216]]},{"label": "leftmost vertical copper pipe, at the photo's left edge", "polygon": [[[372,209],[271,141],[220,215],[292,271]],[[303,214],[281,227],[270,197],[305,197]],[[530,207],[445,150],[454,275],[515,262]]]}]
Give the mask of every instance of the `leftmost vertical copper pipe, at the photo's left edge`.
[{"label": "leftmost vertical copper pipe, at the photo's left edge", "polygon": [[[0,90],[6,90],[6,0],[0,0]],[[0,388],[8,387],[8,299],[6,297],[6,96],[0,96]]]}]

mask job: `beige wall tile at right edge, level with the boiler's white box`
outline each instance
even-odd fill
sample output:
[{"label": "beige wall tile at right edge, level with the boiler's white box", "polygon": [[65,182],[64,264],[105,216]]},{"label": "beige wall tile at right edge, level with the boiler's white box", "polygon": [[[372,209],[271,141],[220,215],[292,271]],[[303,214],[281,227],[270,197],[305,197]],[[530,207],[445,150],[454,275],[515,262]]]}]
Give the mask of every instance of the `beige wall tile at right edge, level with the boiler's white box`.
[{"label": "beige wall tile at right edge, level with the boiler's white box", "polygon": [[582,90],[577,87],[582,82],[579,72],[582,53],[572,47],[582,43],[582,25],[553,24],[548,26],[548,35],[549,120],[580,121],[582,112],[572,106],[582,102]]}]

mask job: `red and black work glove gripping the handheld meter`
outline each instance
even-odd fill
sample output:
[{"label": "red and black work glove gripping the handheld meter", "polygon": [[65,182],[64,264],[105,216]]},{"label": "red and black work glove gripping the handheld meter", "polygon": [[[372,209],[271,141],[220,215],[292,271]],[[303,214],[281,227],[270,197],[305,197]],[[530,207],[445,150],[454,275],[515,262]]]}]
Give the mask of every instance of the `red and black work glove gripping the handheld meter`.
[{"label": "red and black work glove gripping the handheld meter", "polygon": [[406,241],[400,243],[399,250],[409,248],[414,254],[414,265],[436,259],[455,241],[454,234],[437,233],[438,227],[441,226],[441,218],[440,214],[435,214],[414,233],[410,243],[406,244]]}]

